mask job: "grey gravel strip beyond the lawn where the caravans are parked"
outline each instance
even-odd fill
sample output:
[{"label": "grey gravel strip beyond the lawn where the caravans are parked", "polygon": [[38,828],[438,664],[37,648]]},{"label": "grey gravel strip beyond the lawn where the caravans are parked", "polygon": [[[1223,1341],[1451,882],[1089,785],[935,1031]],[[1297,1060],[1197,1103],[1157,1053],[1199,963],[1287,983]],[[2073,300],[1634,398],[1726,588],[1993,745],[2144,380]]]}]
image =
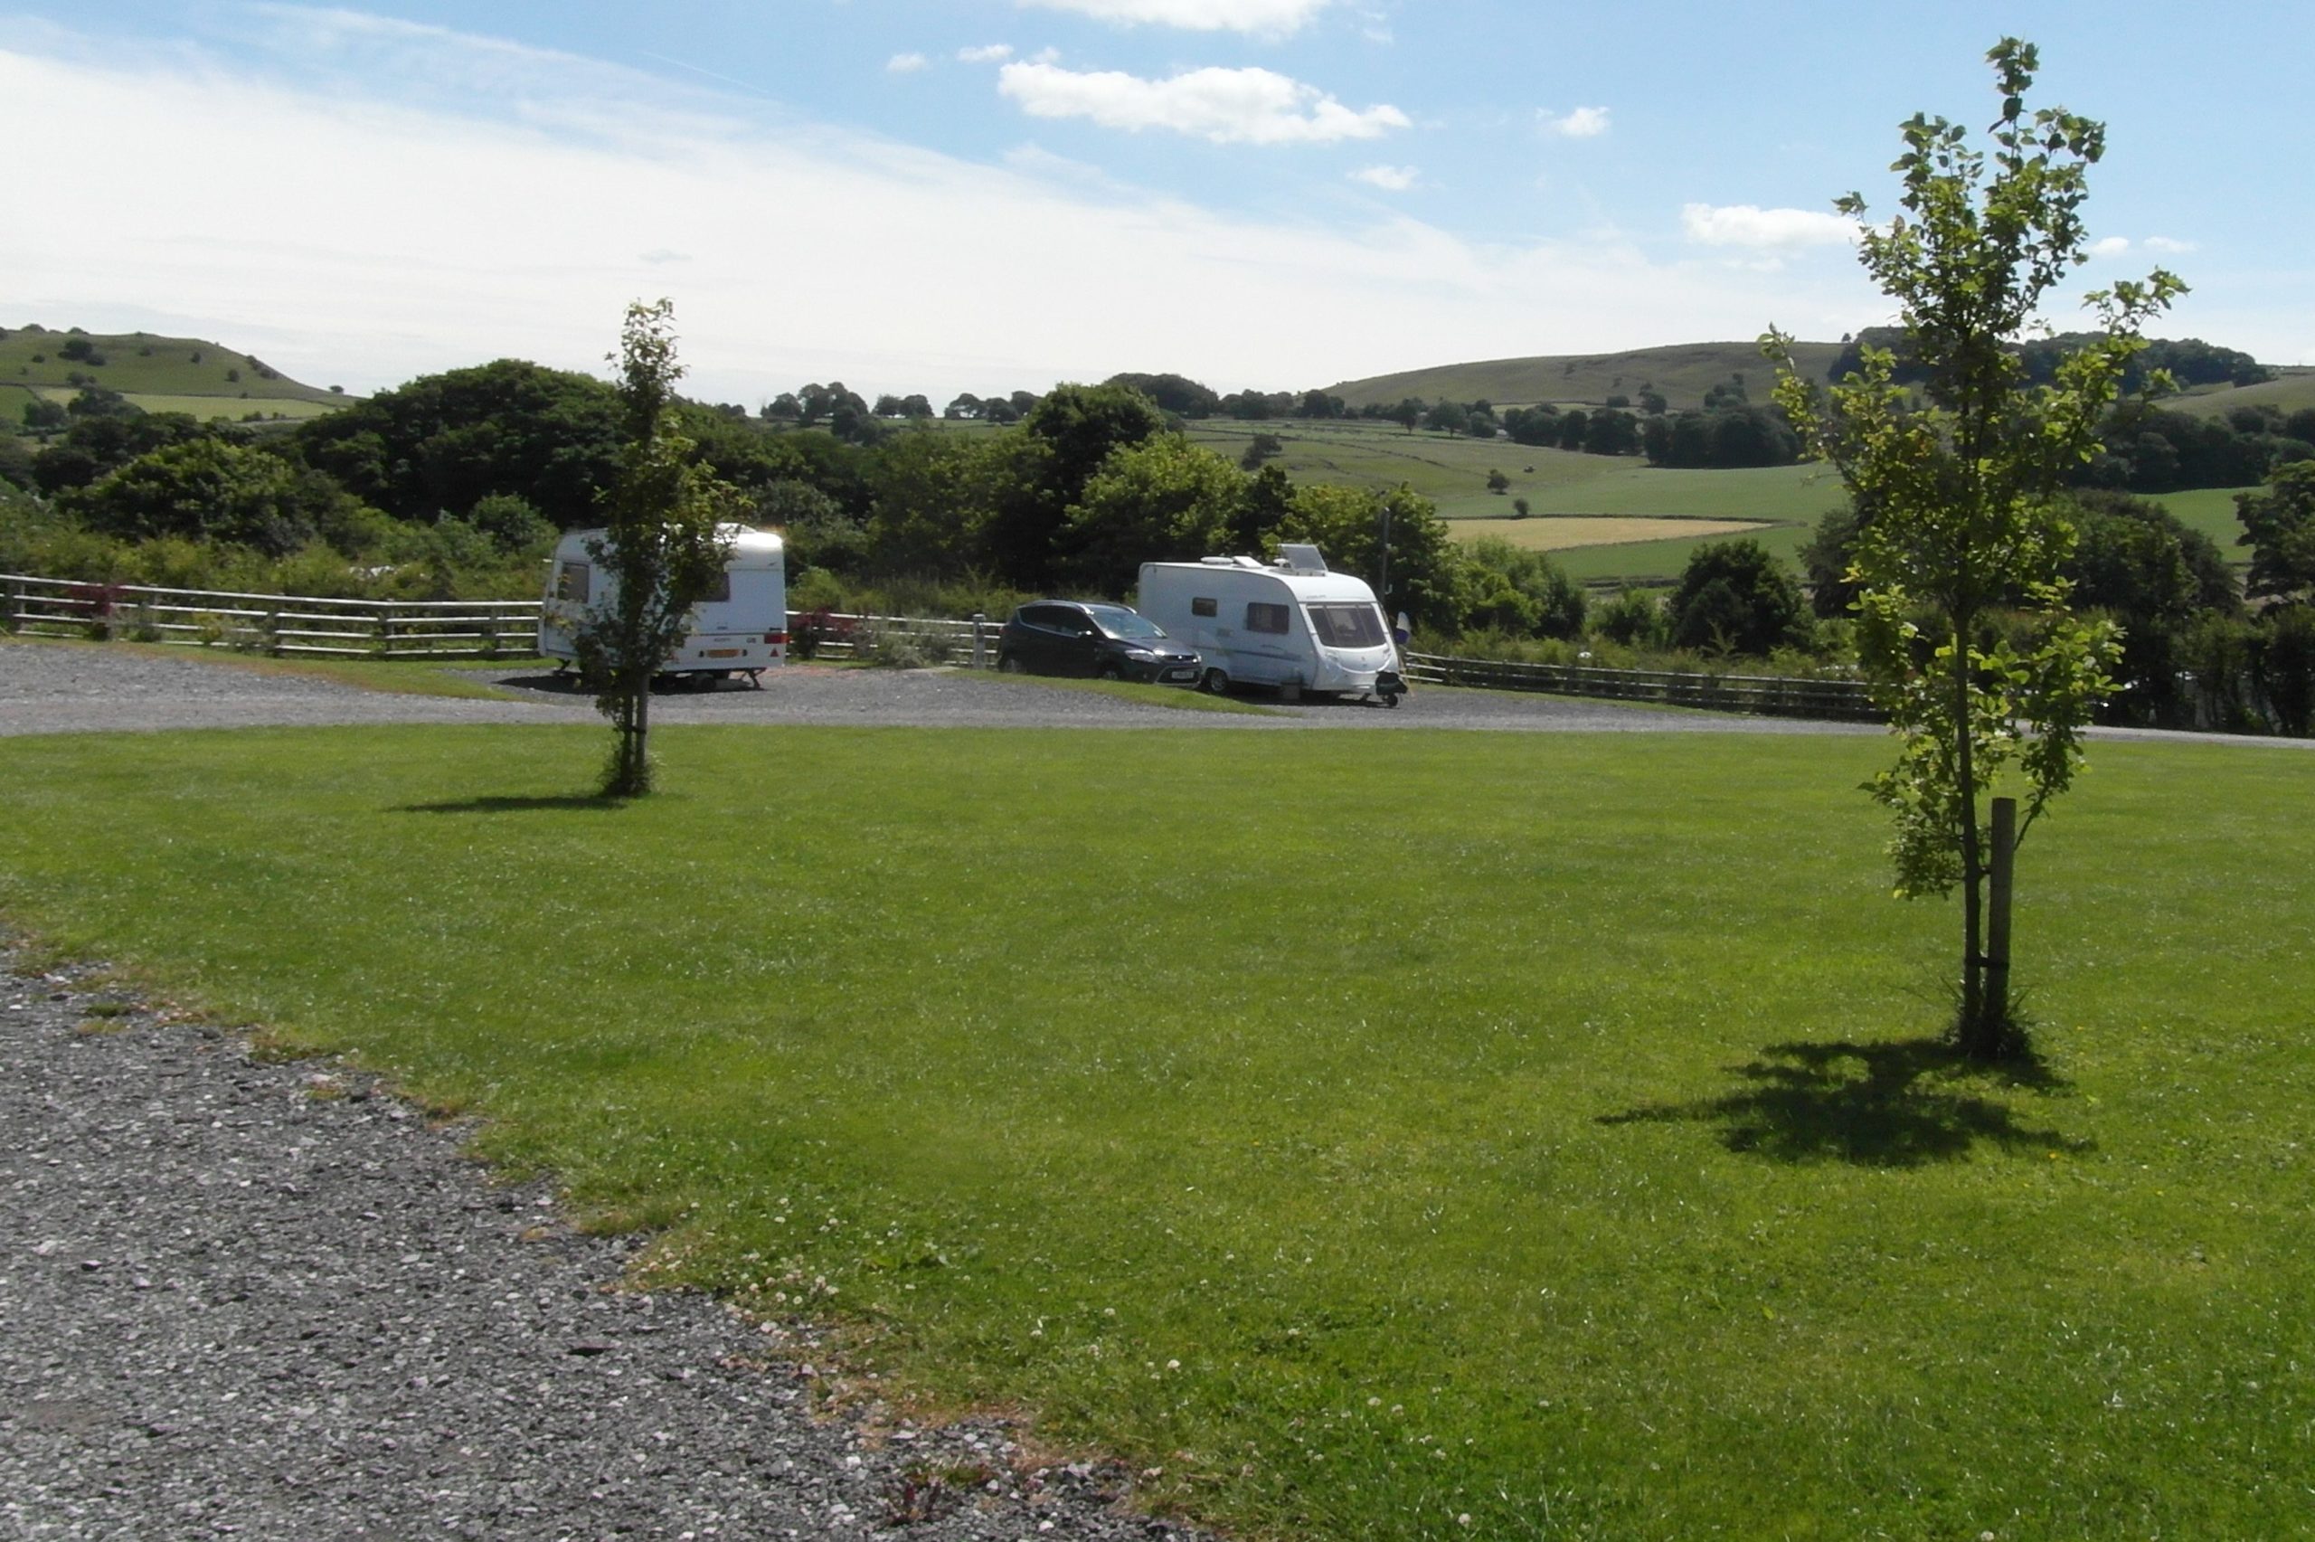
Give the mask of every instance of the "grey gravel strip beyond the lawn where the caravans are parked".
[{"label": "grey gravel strip beyond the lawn where the caravans are parked", "polygon": [[[310,676],[257,674],[227,660],[155,658],[102,646],[0,641],[0,736],[90,729],[185,729],[357,722],[602,722],[551,674],[477,676],[505,699],[407,697]],[[653,697],[653,722],[824,722],[854,727],[1169,727],[1169,729],[1495,729],[1639,734],[1854,734],[1859,725],[1653,711],[1495,690],[1417,688],[1403,706],[1310,702],[1264,713],[1144,706],[961,669],[815,669]]]}]

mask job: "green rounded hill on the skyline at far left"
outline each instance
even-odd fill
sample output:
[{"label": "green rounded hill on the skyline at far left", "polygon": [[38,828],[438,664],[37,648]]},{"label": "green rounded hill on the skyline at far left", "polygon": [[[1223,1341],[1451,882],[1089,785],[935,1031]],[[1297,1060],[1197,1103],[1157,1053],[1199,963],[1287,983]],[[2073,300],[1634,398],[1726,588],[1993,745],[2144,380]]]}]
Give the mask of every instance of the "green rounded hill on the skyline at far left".
[{"label": "green rounded hill on the skyline at far left", "polygon": [[347,401],[289,380],[262,359],[204,338],[150,331],[90,333],[46,326],[0,331],[0,410],[19,419],[23,401],[69,401],[83,384],[120,391],[148,412],[313,417]]}]

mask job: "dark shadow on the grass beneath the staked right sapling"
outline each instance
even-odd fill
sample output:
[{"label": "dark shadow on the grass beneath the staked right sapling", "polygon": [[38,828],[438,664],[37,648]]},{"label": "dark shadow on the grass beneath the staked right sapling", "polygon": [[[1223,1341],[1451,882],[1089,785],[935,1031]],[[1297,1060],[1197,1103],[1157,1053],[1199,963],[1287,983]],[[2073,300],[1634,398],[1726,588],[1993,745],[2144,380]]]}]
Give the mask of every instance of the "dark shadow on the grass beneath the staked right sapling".
[{"label": "dark shadow on the grass beneath the staked right sapling", "polygon": [[1734,1067],[1743,1086],[1720,1097],[1602,1114],[1602,1125],[1715,1123],[1729,1151],[1778,1162],[1926,1167],[1975,1146],[2088,1151],[2090,1141],[2019,1123],[1970,1084],[2063,1091],[2040,1060],[1977,1065],[1945,1040],[1884,1044],[1769,1044]]}]

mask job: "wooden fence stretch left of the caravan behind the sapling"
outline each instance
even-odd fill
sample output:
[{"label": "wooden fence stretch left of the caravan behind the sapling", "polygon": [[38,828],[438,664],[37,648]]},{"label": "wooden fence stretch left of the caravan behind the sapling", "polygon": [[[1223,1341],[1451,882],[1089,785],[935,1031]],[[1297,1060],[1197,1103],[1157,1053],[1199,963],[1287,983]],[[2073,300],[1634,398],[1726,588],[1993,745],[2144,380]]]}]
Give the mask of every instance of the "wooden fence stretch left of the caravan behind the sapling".
[{"label": "wooden fence stretch left of the caravan behind the sapling", "polygon": [[0,574],[0,630],[322,658],[528,653],[537,600],[319,600]]}]

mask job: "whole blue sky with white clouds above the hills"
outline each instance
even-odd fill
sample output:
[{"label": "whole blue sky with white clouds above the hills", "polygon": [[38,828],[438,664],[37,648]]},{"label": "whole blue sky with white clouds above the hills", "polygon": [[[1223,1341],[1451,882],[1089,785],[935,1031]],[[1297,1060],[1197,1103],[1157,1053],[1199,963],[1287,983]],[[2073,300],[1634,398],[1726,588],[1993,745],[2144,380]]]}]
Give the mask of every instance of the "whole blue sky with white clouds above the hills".
[{"label": "whole blue sky with white clouds above the hills", "polygon": [[1887,303],[1831,199],[1986,123],[2002,32],[2111,130],[2084,282],[2160,262],[2165,336],[2315,361],[2315,7],[2123,2],[32,0],[0,324],[368,391],[600,368],[667,294],[748,405],[1836,338]]}]

